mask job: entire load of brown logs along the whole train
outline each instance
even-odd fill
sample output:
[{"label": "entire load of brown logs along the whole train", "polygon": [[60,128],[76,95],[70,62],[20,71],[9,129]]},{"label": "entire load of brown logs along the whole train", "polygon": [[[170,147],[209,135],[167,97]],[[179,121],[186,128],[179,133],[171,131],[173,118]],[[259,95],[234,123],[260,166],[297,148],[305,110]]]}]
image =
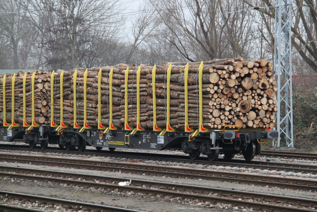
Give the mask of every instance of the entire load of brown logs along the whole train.
[{"label": "entire load of brown logs along the whole train", "polygon": [[[184,131],[185,127],[185,93],[184,68],[186,63],[166,63],[156,68],[155,95],[157,126],[166,127],[167,68],[171,68],[170,84],[170,125]],[[188,74],[188,116],[189,127],[198,128],[198,67],[200,63],[189,63]],[[203,125],[206,128],[223,128],[228,125],[246,127],[275,127],[276,80],[271,62],[265,59],[243,61],[243,58],[215,59],[205,61],[203,68]],[[140,65],[140,125],[146,130],[153,128],[152,70],[151,65]],[[125,87],[125,72],[129,67],[128,87]],[[109,81],[112,67],[91,68],[87,74],[87,123],[98,126],[98,72],[101,77],[101,123],[109,126],[109,83],[112,83],[113,125],[124,129],[125,91],[128,92],[128,124],[136,127],[137,114],[137,70],[139,66],[118,64],[113,66],[113,80]],[[74,126],[74,104],[77,105],[77,124],[84,120],[84,72],[77,70],[76,102],[74,102],[74,71],[65,71],[63,78],[63,121],[69,127]],[[60,123],[61,70],[54,77],[54,121]],[[27,73],[27,123],[31,117],[31,72]],[[36,71],[36,123],[50,123],[50,74]],[[1,77],[1,76],[0,76]],[[6,80],[6,119],[11,123],[11,75]],[[16,123],[23,120],[23,73],[18,73],[15,83],[15,117]],[[0,124],[3,124],[3,90],[0,81]]]}]

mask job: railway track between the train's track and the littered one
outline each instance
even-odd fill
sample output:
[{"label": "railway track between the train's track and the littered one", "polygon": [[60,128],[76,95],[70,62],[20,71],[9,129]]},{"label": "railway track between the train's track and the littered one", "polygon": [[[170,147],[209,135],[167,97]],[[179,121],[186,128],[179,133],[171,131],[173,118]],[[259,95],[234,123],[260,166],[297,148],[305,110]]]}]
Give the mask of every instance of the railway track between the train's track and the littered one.
[{"label": "railway track between the train's track and the littered one", "polygon": [[[159,175],[177,178],[203,179],[225,182],[239,182],[249,185],[270,186],[306,191],[317,191],[317,181],[300,180],[285,177],[211,171],[190,168],[171,168],[165,166],[139,165],[136,163],[102,162],[75,159],[61,159],[54,157],[38,157],[27,155],[0,154],[0,161],[13,163],[31,163],[34,165],[49,165],[66,168],[80,168],[102,171],[117,171],[133,174]],[[0,166],[5,169],[5,166]]]}]

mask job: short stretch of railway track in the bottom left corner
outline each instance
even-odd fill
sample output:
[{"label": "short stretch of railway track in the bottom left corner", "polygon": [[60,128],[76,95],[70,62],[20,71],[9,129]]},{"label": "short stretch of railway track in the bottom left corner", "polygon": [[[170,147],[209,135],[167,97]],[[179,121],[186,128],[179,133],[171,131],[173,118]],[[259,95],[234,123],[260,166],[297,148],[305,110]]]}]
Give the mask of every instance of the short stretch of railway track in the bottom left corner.
[{"label": "short stretch of railway track in the bottom left corner", "polygon": [[[39,203],[33,204],[36,201]],[[54,207],[54,205],[59,205],[59,208],[65,208],[67,209],[67,211],[78,211],[87,209],[91,211],[104,210],[112,212],[141,212],[139,210],[117,208],[106,205],[91,204],[86,202],[77,202],[44,196],[0,191],[0,209],[2,211],[55,211],[56,207]]]}]

